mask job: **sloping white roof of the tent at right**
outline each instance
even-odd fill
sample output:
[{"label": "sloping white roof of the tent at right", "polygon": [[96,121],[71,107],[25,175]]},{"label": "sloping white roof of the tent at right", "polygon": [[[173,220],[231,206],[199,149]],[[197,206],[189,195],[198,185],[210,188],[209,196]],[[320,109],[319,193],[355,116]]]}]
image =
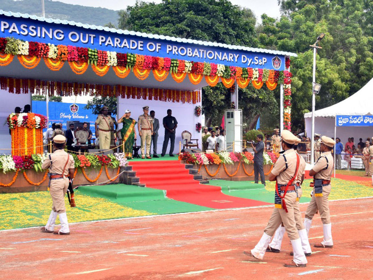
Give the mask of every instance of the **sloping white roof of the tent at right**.
[{"label": "sloping white roof of the tent at right", "polygon": [[[331,117],[336,115],[373,115],[373,103],[370,102],[373,93],[373,79],[359,91],[347,99],[315,111],[315,117]],[[304,118],[311,118],[312,113],[305,113]]]}]

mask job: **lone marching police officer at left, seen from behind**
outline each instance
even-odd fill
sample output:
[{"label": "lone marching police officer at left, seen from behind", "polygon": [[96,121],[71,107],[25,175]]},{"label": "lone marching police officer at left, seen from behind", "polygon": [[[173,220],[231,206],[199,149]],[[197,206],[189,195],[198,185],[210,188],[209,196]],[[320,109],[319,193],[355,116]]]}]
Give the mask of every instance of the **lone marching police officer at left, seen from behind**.
[{"label": "lone marching police officer at left, seen from behind", "polygon": [[[54,234],[70,234],[68,217],[66,216],[65,194],[69,187],[69,178],[74,177],[74,159],[72,155],[63,150],[66,144],[66,138],[62,135],[57,135],[53,138],[54,153],[43,162],[43,169],[49,168],[49,192],[52,197],[52,211],[45,227],[40,230]],[[60,218],[61,228],[54,231],[57,214]]]}]

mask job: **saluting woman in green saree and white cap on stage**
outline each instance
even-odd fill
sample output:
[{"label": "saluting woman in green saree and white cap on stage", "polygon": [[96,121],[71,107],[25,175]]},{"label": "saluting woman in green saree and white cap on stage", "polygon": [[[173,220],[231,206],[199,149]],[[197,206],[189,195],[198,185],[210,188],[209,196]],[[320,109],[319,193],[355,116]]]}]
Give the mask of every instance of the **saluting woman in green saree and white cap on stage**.
[{"label": "saluting woman in green saree and white cap on stage", "polygon": [[136,130],[135,125],[137,121],[130,118],[131,111],[126,110],[122,118],[118,119],[118,124],[123,122],[123,128],[120,131],[122,134],[122,142],[124,143],[124,153],[125,157],[132,159],[132,149],[134,146],[134,140],[136,140]]}]

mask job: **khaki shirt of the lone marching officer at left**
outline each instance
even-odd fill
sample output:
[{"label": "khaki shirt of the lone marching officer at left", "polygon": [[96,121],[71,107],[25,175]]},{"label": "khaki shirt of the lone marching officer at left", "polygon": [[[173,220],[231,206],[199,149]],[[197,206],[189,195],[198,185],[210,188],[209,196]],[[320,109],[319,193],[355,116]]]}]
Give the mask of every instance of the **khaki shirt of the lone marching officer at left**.
[{"label": "khaki shirt of the lone marching officer at left", "polygon": [[[69,161],[68,161],[68,164],[66,164],[68,157],[69,157]],[[41,168],[43,169],[49,168],[49,173],[62,174],[65,164],[66,164],[66,168],[64,172],[65,174],[63,175],[69,174],[69,168],[74,168],[75,162],[74,162],[72,155],[69,155],[64,150],[54,151],[54,153],[50,155],[50,158],[52,159],[52,162],[50,161],[49,156],[48,156],[46,160],[43,162],[43,164],[41,165]]]}]

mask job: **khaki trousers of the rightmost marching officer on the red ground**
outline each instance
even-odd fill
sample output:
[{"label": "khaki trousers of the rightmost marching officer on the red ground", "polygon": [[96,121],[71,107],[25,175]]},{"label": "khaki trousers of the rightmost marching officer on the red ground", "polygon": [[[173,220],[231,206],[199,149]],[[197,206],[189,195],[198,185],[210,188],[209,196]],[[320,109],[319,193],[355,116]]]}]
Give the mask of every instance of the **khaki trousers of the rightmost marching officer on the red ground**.
[{"label": "khaki trousers of the rightmost marching officer on the red ground", "polygon": [[[325,186],[323,187],[323,196],[312,196],[310,204],[308,204],[305,212],[305,217],[307,219],[312,220],[313,216],[316,214],[316,211],[319,210],[322,223],[330,224],[328,197],[331,189],[332,186]],[[313,192],[315,192],[315,189],[313,189]]]}]

